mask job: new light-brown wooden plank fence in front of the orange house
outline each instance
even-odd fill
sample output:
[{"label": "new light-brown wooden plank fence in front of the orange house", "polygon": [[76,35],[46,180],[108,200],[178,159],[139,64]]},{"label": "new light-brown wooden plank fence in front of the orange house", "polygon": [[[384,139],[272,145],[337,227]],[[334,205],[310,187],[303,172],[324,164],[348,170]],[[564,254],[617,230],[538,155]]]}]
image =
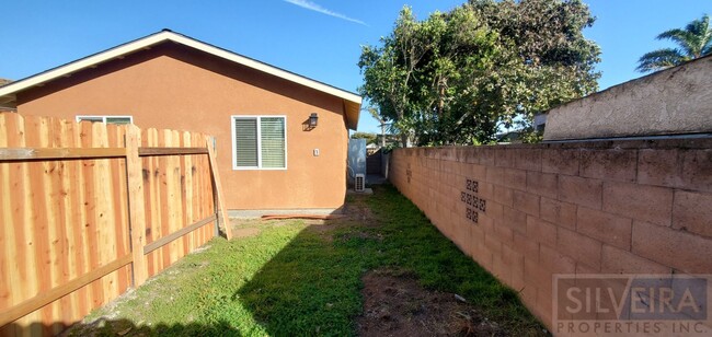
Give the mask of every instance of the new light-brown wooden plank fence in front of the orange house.
[{"label": "new light-brown wooden plank fence in front of the orange house", "polygon": [[219,191],[210,137],[0,113],[0,336],[55,335],[205,244]]}]

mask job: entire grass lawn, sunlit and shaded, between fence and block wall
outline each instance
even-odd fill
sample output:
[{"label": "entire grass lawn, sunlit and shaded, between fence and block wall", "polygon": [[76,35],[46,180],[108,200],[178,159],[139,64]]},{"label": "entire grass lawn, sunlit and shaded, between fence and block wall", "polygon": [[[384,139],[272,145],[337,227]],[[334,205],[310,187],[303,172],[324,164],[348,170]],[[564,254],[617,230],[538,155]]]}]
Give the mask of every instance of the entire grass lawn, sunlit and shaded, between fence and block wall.
[{"label": "entire grass lawn, sunlit and shaded, between fence and block wall", "polygon": [[355,335],[361,277],[378,268],[458,293],[512,335],[542,334],[516,292],[463,255],[393,187],[349,197],[347,208],[361,214],[325,224],[243,224],[260,234],[213,240],[92,313],[70,335]]}]

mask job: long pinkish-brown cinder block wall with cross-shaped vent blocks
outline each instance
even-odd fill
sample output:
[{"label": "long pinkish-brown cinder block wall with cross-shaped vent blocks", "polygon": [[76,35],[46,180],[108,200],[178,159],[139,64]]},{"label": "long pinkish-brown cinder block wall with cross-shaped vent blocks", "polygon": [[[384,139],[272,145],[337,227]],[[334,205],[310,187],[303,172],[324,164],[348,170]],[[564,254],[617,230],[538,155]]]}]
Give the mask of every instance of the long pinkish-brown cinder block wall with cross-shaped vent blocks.
[{"label": "long pinkish-brown cinder block wall with cross-shaped vent blocks", "polygon": [[712,274],[712,139],[399,149],[390,181],[547,325],[553,274]]}]

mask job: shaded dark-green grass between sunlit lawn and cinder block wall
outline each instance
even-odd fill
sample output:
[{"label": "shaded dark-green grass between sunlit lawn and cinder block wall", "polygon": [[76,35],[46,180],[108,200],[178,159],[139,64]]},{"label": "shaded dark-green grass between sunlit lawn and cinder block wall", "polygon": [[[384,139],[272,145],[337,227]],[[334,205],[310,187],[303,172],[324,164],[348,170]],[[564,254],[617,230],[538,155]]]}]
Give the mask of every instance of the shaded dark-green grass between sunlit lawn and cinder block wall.
[{"label": "shaded dark-green grass between sunlit lawn and cinder block wall", "polygon": [[233,295],[269,335],[354,335],[361,277],[405,270],[458,293],[510,335],[544,335],[515,291],[462,254],[391,186],[347,200],[346,220],[309,225]]}]

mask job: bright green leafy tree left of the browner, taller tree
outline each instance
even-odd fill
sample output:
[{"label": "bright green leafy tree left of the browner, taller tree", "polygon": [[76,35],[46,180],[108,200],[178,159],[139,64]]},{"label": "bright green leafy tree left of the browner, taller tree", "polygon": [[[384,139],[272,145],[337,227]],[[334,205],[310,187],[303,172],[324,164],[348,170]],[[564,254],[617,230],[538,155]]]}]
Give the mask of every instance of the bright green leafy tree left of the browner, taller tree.
[{"label": "bright green leafy tree left of the browner, taller tree", "polygon": [[453,133],[444,125],[462,117],[451,114],[452,107],[469,105],[468,86],[484,78],[495,38],[464,8],[418,22],[405,7],[382,46],[363,47],[359,92],[378,107],[381,124],[390,121],[403,147],[443,142],[449,139],[443,135]]}]

